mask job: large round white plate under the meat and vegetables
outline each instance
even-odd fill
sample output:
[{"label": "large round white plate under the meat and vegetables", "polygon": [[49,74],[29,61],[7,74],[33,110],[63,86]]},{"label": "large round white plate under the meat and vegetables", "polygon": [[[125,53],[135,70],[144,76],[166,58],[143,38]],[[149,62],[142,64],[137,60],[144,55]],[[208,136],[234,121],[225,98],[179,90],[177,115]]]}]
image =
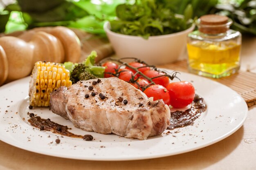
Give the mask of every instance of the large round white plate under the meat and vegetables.
[{"label": "large round white plate under the meat and vegetables", "polygon": [[[182,73],[179,77],[193,82],[196,93],[204,98],[208,108],[193,126],[170,130],[169,135],[162,134],[143,141],[102,135],[75,128],[70,121],[55,115],[49,108],[29,110],[30,77],[26,77],[0,88],[0,140],[18,148],[55,157],[121,161],[165,157],[203,148],[228,137],[243,125],[248,108],[235,91],[196,75]],[[84,141],[40,131],[27,122],[28,112],[67,125],[75,134],[91,134],[95,140]],[[57,137],[61,139],[60,144],[55,142]]]}]

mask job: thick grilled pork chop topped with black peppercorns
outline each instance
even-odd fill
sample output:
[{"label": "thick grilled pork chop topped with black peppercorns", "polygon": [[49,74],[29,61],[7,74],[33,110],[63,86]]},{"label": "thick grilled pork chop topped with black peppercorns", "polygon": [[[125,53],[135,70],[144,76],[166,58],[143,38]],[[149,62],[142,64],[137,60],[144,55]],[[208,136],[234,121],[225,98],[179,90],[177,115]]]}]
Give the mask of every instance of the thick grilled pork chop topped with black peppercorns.
[{"label": "thick grilled pork chop topped with black peppercorns", "polygon": [[53,113],[86,131],[147,139],[169,125],[170,109],[117,77],[80,81],[50,94]]}]

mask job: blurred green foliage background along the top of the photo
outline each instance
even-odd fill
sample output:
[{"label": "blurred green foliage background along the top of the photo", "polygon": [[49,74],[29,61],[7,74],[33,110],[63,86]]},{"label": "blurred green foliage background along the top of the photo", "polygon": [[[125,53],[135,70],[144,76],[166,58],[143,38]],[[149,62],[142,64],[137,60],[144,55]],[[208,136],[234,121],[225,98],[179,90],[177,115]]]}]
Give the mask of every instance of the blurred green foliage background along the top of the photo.
[{"label": "blurred green foliage background along the top of the photo", "polygon": [[[137,0],[139,1],[139,0]],[[230,17],[232,29],[256,35],[256,0],[148,0],[162,2],[174,13],[191,10],[192,19],[209,13]],[[105,35],[103,23],[115,20],[117,5],[135,0],[0,0],[0,32],[39,26],[67,26]]]}]

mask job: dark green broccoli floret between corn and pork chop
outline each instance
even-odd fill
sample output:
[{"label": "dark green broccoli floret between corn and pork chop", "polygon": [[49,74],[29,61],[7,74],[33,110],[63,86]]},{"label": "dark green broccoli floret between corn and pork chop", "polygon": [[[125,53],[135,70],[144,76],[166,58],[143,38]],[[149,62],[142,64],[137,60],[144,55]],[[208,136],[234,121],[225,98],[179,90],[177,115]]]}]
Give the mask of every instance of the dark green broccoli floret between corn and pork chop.
[{"label": "dark green broccoli floret between corn and pork chop", "polygon": [[86,71],[87,66],[84,64],[78,64],[77,66],[74,67],[71,75],[70,75],[70,80],[72,81],[72,84],[80,81],[80,80],[88,80],[88,79],[95,79],[97,78],[96,76],[92,75],[88,71]]}]

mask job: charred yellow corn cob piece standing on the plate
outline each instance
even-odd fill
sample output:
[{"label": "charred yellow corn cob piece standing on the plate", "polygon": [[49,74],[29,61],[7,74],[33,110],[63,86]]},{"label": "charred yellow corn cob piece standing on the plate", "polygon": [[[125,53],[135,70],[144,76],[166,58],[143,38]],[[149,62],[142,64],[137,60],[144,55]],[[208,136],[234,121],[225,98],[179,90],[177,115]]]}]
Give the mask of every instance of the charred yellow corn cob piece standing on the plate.
[{"label": "charred yellow corn cob piece standing on the plate", "polygon": [[48,107],[50,93],[60,86],[71,86],[70,71],[52,62],[36,62],[29,82],[30,106]]}]

